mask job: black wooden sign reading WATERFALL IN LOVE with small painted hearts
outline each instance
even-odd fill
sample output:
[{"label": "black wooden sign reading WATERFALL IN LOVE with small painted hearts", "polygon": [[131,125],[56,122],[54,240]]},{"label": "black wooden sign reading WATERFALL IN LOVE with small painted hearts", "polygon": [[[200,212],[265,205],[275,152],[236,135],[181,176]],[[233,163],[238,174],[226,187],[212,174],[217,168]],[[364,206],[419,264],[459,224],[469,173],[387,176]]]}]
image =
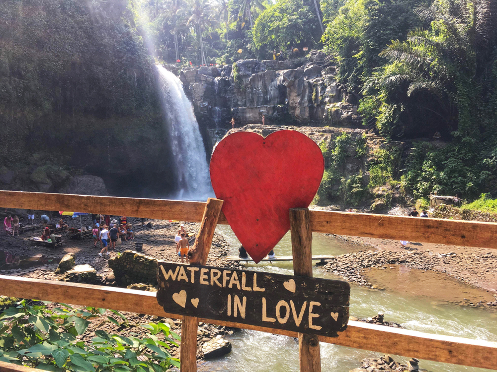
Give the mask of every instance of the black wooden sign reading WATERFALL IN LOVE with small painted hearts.
[{"label": "black wooden sign reading WATERFALL IN LOVE with small painted hearts", "polygon": [[347,328],[344,281],[163,261],[157,280],[166,312],[331,337]]}]

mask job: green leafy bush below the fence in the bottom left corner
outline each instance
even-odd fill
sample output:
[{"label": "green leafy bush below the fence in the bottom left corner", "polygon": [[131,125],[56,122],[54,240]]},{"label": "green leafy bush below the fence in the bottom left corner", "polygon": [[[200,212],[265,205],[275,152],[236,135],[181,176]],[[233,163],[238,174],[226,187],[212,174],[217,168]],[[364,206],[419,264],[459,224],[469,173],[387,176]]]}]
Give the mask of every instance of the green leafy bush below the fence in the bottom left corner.
[{"label": "green leafy bush below the fence in the bottom left corner", "polygon": [[[53,310],[46,302],[22,300],[0,314],[0,361],[25,365],[45,371],[75,372],[162,372],[169,366],[179,367],[166,349],[179,340],[166,323],[141,325],[149,330],[147,337],[124,337],[95,330],[90,342],[78,341],[90,320],[120,324],[105,309],[75,310],[61,304]],[[159,337],[160,336],[160,337]],[[164,341],[162,341],[164,340]]]}]

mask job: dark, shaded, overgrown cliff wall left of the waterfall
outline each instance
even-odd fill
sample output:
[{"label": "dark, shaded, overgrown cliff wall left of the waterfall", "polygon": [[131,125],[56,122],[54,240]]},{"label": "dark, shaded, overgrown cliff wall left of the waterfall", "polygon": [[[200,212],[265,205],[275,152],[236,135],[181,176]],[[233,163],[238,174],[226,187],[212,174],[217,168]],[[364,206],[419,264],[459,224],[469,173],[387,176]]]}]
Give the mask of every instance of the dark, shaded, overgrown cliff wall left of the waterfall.
[{"label": "dark, shaded, overgrown cliff wall left of the waterfall", "polygon": [[0,168],[71,164],[167,187],[154,61],[131,6],[0,2]]}]

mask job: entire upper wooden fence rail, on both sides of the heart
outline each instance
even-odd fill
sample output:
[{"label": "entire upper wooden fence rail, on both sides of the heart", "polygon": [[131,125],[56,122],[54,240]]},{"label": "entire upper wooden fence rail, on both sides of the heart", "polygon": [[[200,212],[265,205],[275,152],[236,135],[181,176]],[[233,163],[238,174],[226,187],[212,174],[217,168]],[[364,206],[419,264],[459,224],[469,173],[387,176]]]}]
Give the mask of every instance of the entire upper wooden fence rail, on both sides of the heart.
[{"label": "entire upper wooden fence rail, on both sides of the heart", "polygon": [[[0,207],[72,210],[153,219],[201,222],[204,202],[0,191]],[[369,213],[309,211],[311,229],[356,237],[409,240],[419,243],[497,248],[497,224],[387,216]],[[219,224],[228,224],[221,212]]]}]

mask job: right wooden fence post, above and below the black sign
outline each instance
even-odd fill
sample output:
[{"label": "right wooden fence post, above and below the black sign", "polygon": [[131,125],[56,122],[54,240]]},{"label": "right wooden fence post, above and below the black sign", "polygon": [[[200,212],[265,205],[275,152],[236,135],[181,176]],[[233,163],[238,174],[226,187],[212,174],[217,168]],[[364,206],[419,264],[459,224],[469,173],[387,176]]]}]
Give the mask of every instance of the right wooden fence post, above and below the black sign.
[{"label": "right wooden fence post, above and below the black sign", "polygon": [[[312,278],[312,230],[309,209],[290,209],[293,273]],[[301,372],[321,372],[321,353],[317,336],[299,333]]]}]

